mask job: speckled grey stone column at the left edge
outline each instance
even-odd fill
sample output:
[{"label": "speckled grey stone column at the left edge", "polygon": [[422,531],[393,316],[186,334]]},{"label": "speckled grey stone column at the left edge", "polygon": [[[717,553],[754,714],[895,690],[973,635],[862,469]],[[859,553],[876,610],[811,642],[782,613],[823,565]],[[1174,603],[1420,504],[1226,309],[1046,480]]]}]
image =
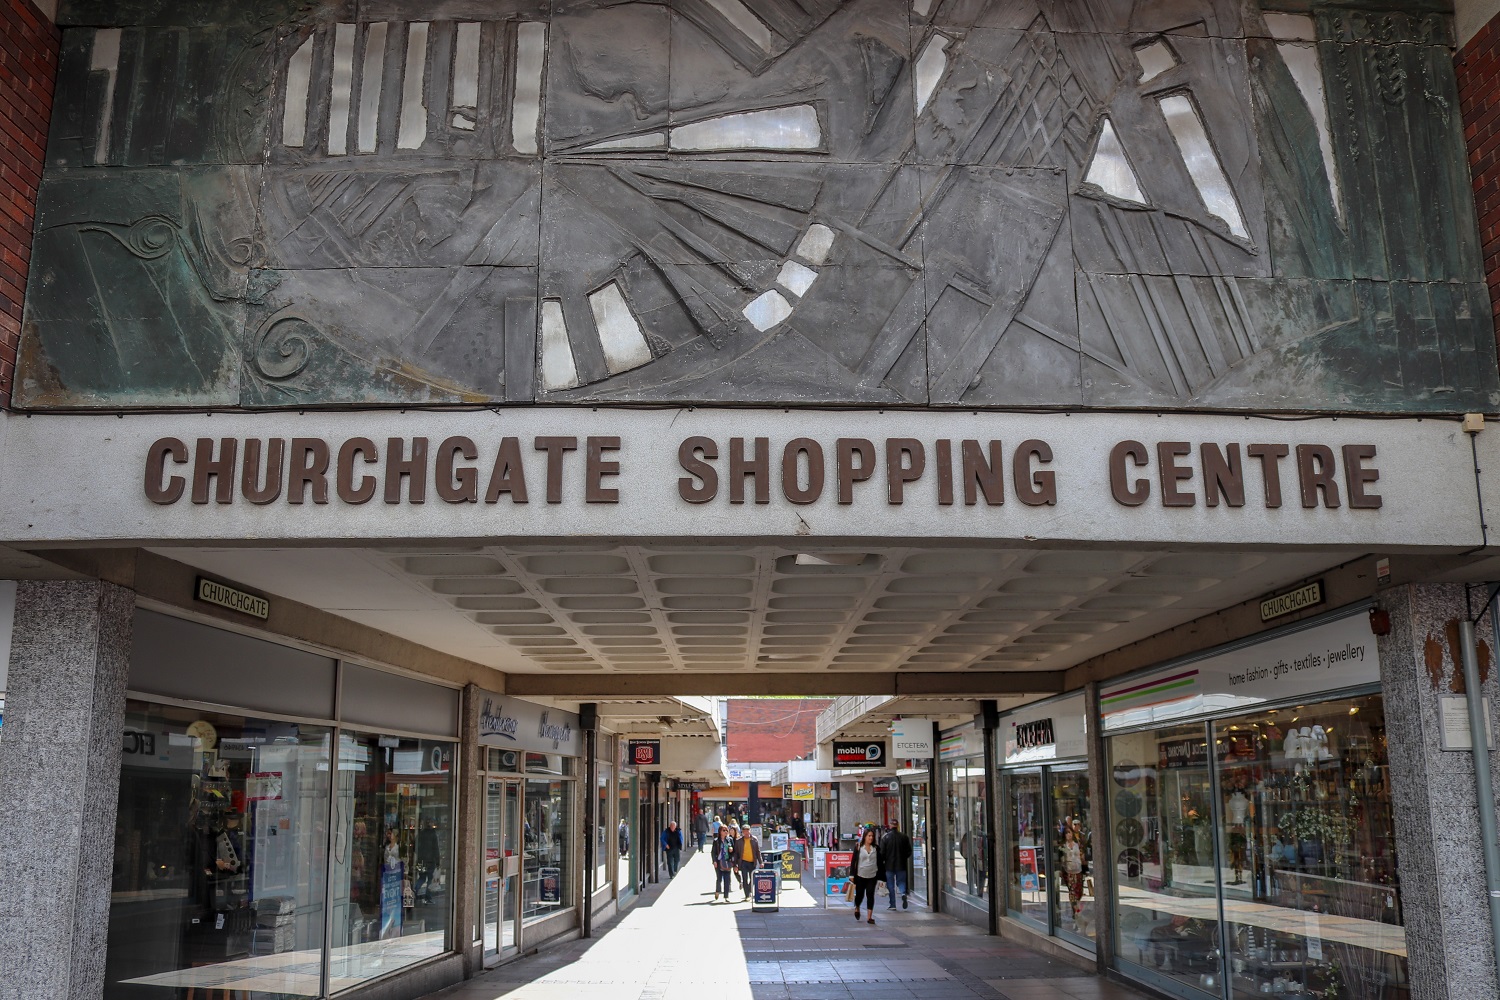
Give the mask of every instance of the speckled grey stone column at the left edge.
[{"label": "speckled grey stone column at the left edge", "polygon": [[135,595],[16,588],[0,738],[0,1000],[104,996]]}]

